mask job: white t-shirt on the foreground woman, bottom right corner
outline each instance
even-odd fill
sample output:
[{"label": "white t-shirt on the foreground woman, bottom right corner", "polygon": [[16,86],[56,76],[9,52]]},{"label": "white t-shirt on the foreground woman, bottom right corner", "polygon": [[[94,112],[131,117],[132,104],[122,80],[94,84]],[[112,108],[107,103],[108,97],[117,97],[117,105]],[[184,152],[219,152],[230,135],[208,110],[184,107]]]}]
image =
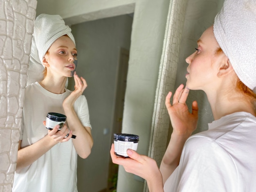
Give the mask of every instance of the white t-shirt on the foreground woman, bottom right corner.
[{"label": "white t-shirt on the foreground woman, bottom right corner", "polygon": [[165,192],[256,192],[256,117],[237,112],[191,136]]}]

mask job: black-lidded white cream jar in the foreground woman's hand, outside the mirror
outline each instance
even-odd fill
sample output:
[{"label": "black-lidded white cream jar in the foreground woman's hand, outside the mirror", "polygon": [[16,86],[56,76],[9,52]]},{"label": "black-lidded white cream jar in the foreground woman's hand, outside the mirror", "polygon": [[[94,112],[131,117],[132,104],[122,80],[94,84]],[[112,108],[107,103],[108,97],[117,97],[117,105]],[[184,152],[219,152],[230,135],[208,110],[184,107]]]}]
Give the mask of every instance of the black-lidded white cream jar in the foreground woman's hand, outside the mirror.
[{"label": "black-lidded white cream jar in the foreground woman's hand, outside the mirror", "polygon": [[114,134],[115,154],[121,157],[129,157],[128,149],[137,150],[139,136],[134,134]]}]

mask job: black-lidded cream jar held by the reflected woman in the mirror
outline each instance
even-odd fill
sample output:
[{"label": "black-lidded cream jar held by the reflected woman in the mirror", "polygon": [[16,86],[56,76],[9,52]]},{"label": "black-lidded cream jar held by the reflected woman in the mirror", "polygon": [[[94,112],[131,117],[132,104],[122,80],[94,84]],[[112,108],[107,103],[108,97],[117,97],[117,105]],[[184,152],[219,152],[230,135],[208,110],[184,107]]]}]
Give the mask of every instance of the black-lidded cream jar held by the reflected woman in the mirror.
[{"label": "black-lidded cream jar held by the reflected woman in the mirror", "polygon": [[[59,125],[60,127],[58,128],[58,131],[62,129],[62,127],[65,124],[65,121],[67,119],[67,116],[61,114],[61,113],[54,113],[54,112],[49,112],[47,113],[46,116],[46,125],[45,127],[49,130],[52,130],[56,125]],[[69,134],[66,135],[66,137]],[[72,138],[76,138],[75,135],[72,135]]]}]

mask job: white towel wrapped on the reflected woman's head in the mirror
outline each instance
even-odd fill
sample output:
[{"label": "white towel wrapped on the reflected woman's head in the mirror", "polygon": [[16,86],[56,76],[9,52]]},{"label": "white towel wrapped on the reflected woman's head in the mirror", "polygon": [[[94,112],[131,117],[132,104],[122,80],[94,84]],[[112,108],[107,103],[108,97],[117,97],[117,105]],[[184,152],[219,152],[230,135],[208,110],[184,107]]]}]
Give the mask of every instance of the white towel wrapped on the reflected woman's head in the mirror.
[{"label": "white towel wrapped on the reflected woman's head in the mirror", "polygon": [[36,18],[31,42],[27,85],[42,80],[43,57],[54,41],[63,35],[69,36],[75,44],[71,29],[65,25],[61,16],[40,14]]}]

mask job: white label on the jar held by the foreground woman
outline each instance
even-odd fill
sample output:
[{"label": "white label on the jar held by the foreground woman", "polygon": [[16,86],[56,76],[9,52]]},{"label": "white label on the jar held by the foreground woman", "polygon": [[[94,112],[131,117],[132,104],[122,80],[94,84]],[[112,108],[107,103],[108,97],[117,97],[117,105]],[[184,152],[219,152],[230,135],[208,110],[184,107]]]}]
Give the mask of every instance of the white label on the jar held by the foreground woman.
[{"label": "white label on the jar held by the foreground woman", "polygon": [[137,150],[138,143],[133,143],[133,141],[114,141],[115,146],[115,152],[117,155],[126,156],[128,157],[128,154],[126,151],[128,149]]}]

